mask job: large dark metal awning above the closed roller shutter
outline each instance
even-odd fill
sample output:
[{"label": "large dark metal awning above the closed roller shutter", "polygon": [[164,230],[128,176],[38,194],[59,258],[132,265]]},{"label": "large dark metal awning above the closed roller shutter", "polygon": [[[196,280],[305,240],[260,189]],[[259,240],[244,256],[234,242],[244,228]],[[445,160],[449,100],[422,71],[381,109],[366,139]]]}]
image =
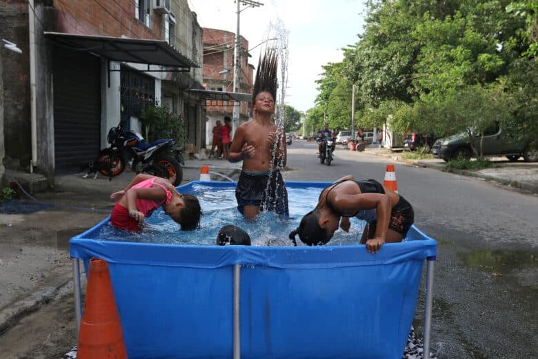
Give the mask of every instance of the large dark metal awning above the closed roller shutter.
[{"label": "large dark metal awning above the closed roller shutter", "polygon": [[162,40],[66,34],[63,32],[44,32],[44,34],[59,46],[75,51],[92,52],[112,61],[170,66],[187,71],[191,67],[200,67]]}]

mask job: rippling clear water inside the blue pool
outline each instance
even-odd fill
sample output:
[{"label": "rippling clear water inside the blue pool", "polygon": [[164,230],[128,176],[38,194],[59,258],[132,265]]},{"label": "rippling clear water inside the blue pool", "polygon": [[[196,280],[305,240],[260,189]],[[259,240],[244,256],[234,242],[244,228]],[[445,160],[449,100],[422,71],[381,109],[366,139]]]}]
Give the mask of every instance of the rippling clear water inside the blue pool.
[{"label": "rippling clear water inside the blue pool", "polygon": [[[143,242],[161,244],[215,244],[222,226],[234,224],[246,231],[253,246],[291,246],[288,234],[299,226],[301,217],[312,211],[321,192],[319,187],[288,188],[290,217],[280,217],[272,212],[260,213],[254,221],[243,219],[237,211],[235,187],[214,188],[196,184],[192,194],[198,197],[202,208],[201,228],[197,231],[181,231],[179,224],[172,221],[161,208],[146,218],[146,228],[141,233],[127,233],[115,229],[110,223],[102,226],[98,237],[101,240],[119,242]],[[330,245],[357,244],[365,222],[351,218],[349,233],[338,230]],[[303,245],[297,236],[297,245]]]}]

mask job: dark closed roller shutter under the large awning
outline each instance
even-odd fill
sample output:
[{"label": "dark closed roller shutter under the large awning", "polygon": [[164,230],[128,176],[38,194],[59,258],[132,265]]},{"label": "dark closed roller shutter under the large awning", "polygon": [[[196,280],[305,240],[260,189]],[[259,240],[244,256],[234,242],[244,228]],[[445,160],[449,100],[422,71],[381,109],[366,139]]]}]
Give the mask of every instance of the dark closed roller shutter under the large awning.
[{"label": "dark closed roller shutter under the large awning", "polygon": [[74,173],[100,150],[101,97],[97,57],[54,49],[54,172]]}]

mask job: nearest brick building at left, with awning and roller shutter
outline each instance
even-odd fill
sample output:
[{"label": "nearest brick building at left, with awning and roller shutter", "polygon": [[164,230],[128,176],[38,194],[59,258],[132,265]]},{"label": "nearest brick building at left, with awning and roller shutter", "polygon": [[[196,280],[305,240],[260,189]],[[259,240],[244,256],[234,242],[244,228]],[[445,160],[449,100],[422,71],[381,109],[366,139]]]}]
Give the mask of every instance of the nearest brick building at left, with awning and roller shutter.
[{"label": "nearest brick building at left, with awning and roller shutter", "polygon": [[0,15],[0,37],[22,50],[0,57],[7,169],[53,184],[95,159],[112,126],[138,130],[147,106],[167,106],[187,142],[205,141],[203,97],[188,93],[203,61],[188,0],[0,0]]}]

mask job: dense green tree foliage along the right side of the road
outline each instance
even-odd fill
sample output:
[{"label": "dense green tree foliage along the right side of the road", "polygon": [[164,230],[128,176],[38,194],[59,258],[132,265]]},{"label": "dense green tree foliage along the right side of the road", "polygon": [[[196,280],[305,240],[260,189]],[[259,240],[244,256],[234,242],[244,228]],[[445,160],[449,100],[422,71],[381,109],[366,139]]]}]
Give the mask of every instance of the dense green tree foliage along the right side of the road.
[{"label": "dense green tree foliage along the right side of the road", "polygon": [[[323,66],[316,107],[332,128],[357,126],[444,136],[498,122],[538,133],[538,1],[370,0],[364,32],[343,60]],[[475,149],[477,155],[480,148]]]}]

